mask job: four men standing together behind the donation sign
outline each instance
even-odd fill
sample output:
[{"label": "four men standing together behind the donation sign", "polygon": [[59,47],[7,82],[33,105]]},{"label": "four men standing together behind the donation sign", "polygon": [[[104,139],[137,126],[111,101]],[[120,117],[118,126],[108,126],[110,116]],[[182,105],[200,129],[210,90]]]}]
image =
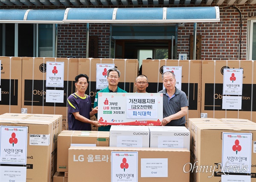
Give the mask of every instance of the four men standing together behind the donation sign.
[{"label": "four men standing together behind the donation sign", "polygon": [[[99,127],[99,131],[109,131],[111,125],[102,125],[98,121],[90,120],[90,117],[98,113],[98,94],[100,92],[123,92],[118,87],[120,71],[111,68],[107,72],[108,87],[98,91],[94,101],[94,108],[91,108],[90,96],[85,94],[88,86],[88,76],[79,74],[76,76],[77,92],[68,97],[68,125],[69,130],[91,130],[90,124]],[[177,89],[175,74],[167,71],[162,75],[164,89],[158,93],[163,93],[163,120],[161,125],[185,126],[185,115],[188,112],[188,100],[186,94]],[[145,75],[139,75],[135,80],[137,93],[146,93],[148,87],[148,78]]]}]

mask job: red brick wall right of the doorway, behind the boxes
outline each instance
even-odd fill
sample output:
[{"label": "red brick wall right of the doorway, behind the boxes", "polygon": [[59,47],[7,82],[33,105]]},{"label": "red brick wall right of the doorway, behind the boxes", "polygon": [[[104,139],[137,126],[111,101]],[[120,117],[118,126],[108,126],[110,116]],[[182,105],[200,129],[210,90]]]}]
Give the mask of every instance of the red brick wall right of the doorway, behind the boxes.
[{"label": "red brick wall right of the doorway, behind the boxes", "polygon": [[[217,6],[212,4],[212,6]],[[241,11],[241,60],[247,57],[247,18],[255,17],[256,6],[237,6]],[[202,36],[202,60],[239,60],[240,14],[234,7],[220,7],[219,23],[197,23],[197,34]],[[193,34],[194,23],[178,28],[177,54],[189,57],[189,35]]]}]

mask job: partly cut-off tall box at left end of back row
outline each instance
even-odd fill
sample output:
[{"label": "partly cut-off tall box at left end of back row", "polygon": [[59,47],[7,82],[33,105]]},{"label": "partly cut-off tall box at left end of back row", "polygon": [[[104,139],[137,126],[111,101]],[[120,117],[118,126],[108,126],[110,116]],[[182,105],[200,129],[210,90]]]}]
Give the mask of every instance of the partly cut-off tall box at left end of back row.
[{"label": "partly cut-off tall box at left end of back row", "polygon": [[21,111],[21,57],[0,57],[0,114]]}]

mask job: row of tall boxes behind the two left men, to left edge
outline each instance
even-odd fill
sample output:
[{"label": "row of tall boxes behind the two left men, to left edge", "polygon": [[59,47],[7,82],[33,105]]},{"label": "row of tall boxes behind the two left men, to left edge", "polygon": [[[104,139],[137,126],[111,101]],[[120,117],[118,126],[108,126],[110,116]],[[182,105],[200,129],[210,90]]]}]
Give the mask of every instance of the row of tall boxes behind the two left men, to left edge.
[{"label": "row of tall boxes behind the two left men, to left edge", "polygon": [[[43,57],[0,57],[1,60],[1,100],[0,114],[32,113],[61,114],[62,130],[68,129],[67,97],[76,92],[75,77],[89,76],[86,91],[92,106],[96,90],[96,64],[114,64],[120,70],[119,87],[127,92],[135,92],[134,81],[138,73],[138,60],[126,59],[76,59]],[[46,87],[46,63],[64,62],[64,87]],[[46,102],[46,90],[63,90],[64,102]],[[96,120],[96,117],[91,118]],[[97,130],[92,126],[93,130]]]}]

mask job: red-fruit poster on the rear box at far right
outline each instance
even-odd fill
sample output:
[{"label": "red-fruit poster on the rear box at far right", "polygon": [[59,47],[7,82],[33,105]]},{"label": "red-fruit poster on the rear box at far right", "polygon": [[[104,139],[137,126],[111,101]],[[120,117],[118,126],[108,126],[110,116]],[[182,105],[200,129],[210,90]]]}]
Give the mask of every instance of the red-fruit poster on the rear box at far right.
[{"label": "red-fruit poster on the rear box at far right", "polygon": [[223,70],[223,95],[242,95],[243,69]]}]

